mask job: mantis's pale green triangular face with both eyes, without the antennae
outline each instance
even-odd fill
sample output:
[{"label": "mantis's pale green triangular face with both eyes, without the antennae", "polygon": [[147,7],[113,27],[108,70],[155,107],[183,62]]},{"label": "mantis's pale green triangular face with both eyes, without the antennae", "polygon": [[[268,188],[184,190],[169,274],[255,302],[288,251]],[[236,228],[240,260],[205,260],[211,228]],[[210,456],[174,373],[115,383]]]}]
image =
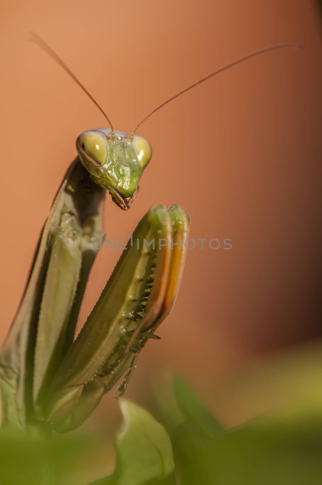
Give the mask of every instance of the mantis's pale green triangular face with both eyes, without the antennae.
[{"label": "mantis's pale green triangular face with both eyes, without the antennae", "polygon": [[99,128],[84,131],[76,140],[82,164],[95,182],[107,189],[121,209],[129,209],[139,188],[139,180],[151,159],[145,138],[122,131]]}]

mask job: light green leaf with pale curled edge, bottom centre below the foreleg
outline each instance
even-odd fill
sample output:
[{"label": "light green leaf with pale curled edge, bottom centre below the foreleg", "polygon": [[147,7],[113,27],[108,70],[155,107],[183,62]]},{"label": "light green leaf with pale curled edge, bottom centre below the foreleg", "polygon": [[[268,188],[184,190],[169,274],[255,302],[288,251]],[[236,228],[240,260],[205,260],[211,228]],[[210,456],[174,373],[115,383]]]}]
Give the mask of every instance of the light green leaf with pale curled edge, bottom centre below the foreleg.
[{"label": "light green leaf with pale curled edge, bottom centre below the foreleg", "polygon": [[[116,466],[96,485],[173,485],[170,437],[145,409],[120,399],[123,424],[116,437]],[[94,485],[94,484],[93,484]]]}]

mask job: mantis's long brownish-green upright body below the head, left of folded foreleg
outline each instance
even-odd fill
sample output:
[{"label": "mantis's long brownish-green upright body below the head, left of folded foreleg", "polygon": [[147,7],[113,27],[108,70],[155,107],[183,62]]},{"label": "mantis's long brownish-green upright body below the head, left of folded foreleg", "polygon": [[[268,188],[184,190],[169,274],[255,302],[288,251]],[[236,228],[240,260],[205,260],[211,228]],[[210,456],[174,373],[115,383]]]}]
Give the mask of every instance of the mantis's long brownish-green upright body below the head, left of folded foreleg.
[{"label": "mantis's long brownish-green upright body below the head, left of folded foreleg", "polygon": [[76,159],[40,235],[16,317],[0,349],[3,425],[24,428],[73,342],[89,271],[103,238],[106,191]]}]

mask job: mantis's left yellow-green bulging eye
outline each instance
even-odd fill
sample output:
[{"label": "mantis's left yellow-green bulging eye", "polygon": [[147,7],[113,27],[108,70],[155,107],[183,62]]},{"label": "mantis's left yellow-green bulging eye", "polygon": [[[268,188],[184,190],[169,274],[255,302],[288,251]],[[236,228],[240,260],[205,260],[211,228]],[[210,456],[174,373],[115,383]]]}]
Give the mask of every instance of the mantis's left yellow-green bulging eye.
[{"label": "mantis's left yellow-green bulging eye", "polygon": [[104,165],[107,161],[107,146],[104,138],[95,131],[84,131],[76,140],[76,148],[81,158],[95,165]]}]

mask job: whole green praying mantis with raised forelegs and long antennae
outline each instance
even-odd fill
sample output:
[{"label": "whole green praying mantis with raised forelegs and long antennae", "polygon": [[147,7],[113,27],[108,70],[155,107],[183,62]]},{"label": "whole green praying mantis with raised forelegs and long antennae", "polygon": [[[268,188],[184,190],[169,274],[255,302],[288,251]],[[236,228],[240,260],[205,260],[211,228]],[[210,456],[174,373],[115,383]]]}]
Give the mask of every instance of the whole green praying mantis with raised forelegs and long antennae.
[{"label": "whole green praying mantis with raised forelegs and long antennae", "polygon": [[77,158],[54,198],[15,319],[0,351],[2,425],[67,432],[77,428],[102,396],[126,374],[122,395],[140,351],[169,315],[183,272],[190,218],[179,206],[153,206],[139,222],[96,305],[74,341],[88,275],[104,238],[108,192],[130,209],[151,146],[135,134],[162,106],[241,62],[292,44],[259,50],[195,82],[148,113],[128,134],[109,117],[48,45],[36,41],[92,99],[110,128],[83,132]]}]

